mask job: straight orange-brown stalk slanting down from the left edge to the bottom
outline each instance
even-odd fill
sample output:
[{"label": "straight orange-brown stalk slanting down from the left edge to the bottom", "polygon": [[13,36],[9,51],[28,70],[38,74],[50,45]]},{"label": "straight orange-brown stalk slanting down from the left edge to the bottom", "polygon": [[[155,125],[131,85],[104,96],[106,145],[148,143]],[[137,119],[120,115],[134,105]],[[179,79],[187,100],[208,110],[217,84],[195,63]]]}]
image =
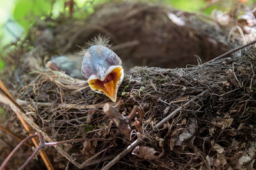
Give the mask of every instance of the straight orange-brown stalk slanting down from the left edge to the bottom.
[{"label": "straight orange-brown stalk slanting down from the left edge to the bottom", "polygon": [[[19,118],[24,129],[27,132],[31,132],[31,130],[32,130],[31,127],[26,123],[24,118],[22,118],[22,116],[19,114],[19,112],[25,113],[25,111],[19,106],[19,104],[16,103],[15,99],[12,97],[10,92],[8,92],[8,90],[6,89],[6,87],[4,86],[4,84],[1,80],[0,80],[0,96],[4,97],[6,104],[8,104],[12,108],[12,110],[16,113],[16,115]],[[29,135],[32,135],[32,134],[29,134]],[[34,138],[32,138],[32,141],[33,141],[34,145],[36,147],[38,147],[38,141]],[[53,166],[52,166],[49,158],[47,157],[46,153],[44,152],[44,150],[40,151],[40,156],[42,157],[47,169],[53,170]]]}]

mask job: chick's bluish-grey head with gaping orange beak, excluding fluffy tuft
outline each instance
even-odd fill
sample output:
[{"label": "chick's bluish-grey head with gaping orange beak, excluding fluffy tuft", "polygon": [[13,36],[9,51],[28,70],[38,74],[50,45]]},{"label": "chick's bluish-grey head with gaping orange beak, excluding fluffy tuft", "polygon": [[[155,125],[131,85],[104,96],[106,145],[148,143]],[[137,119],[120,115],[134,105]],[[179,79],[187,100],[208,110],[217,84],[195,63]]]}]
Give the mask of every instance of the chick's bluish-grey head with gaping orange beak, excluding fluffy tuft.
[{"label": "chick's bluish-grey head with gaping orange beak, excluding fluffy tuft", "polygon": [[116,101],[118,87],[124,78],[121,59],[104,45],[93,45],[85,51],[81,73],[90,88]]}]

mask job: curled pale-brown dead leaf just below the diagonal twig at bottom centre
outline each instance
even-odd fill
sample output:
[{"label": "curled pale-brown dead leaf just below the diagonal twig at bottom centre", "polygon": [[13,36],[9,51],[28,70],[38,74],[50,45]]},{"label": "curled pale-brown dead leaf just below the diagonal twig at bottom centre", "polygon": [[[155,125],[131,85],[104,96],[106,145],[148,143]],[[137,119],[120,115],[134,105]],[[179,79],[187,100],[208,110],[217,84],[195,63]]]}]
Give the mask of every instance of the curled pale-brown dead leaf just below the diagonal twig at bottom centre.
[{"label": "curled pale-brown dead leaf just below the diagonal twig at bottom centre", "polygon": [[141,159],[153,160],[161,158],[164,155],[164,150],[160,153],[154,148],[150,148],[148,146],[136,146],[136,148],[132,151],[132,154]]}]

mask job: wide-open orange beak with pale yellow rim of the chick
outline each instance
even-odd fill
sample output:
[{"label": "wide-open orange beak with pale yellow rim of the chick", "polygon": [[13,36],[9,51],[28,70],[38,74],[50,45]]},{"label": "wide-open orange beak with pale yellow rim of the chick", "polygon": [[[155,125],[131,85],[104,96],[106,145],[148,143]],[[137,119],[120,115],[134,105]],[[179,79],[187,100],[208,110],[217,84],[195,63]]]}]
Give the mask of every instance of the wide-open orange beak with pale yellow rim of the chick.
[{"label": "wide-open orange beak with pale yellow rim of the chick", "polygon": [[116,66],[115,69],[106,74],[104,80],[92,79],[89,80],[89,86],[95,92],[103,92],[111,101],[116,102],[116,94],[119,85],[124,78],[124,69],[122,66]]}]

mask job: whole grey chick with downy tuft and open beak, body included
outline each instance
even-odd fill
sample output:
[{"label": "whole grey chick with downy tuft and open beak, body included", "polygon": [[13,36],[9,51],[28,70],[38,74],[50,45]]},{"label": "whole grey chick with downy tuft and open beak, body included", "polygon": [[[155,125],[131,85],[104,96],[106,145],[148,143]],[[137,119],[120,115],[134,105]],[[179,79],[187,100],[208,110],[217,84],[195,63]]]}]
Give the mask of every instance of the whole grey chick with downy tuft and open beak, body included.
[{"label": "whole grey chick with downy tuft and open beak, body included", "polygon": [[106,38],[99,36],[88,45],[90,47],[81,52],[83,58],[73,60],[60,56],[47,62],[47,66],[54,71],[65,71],[74,78],[86,78],[93,91],[116,102],[118,88],[124,79],[122,60],[109,49]]}]

